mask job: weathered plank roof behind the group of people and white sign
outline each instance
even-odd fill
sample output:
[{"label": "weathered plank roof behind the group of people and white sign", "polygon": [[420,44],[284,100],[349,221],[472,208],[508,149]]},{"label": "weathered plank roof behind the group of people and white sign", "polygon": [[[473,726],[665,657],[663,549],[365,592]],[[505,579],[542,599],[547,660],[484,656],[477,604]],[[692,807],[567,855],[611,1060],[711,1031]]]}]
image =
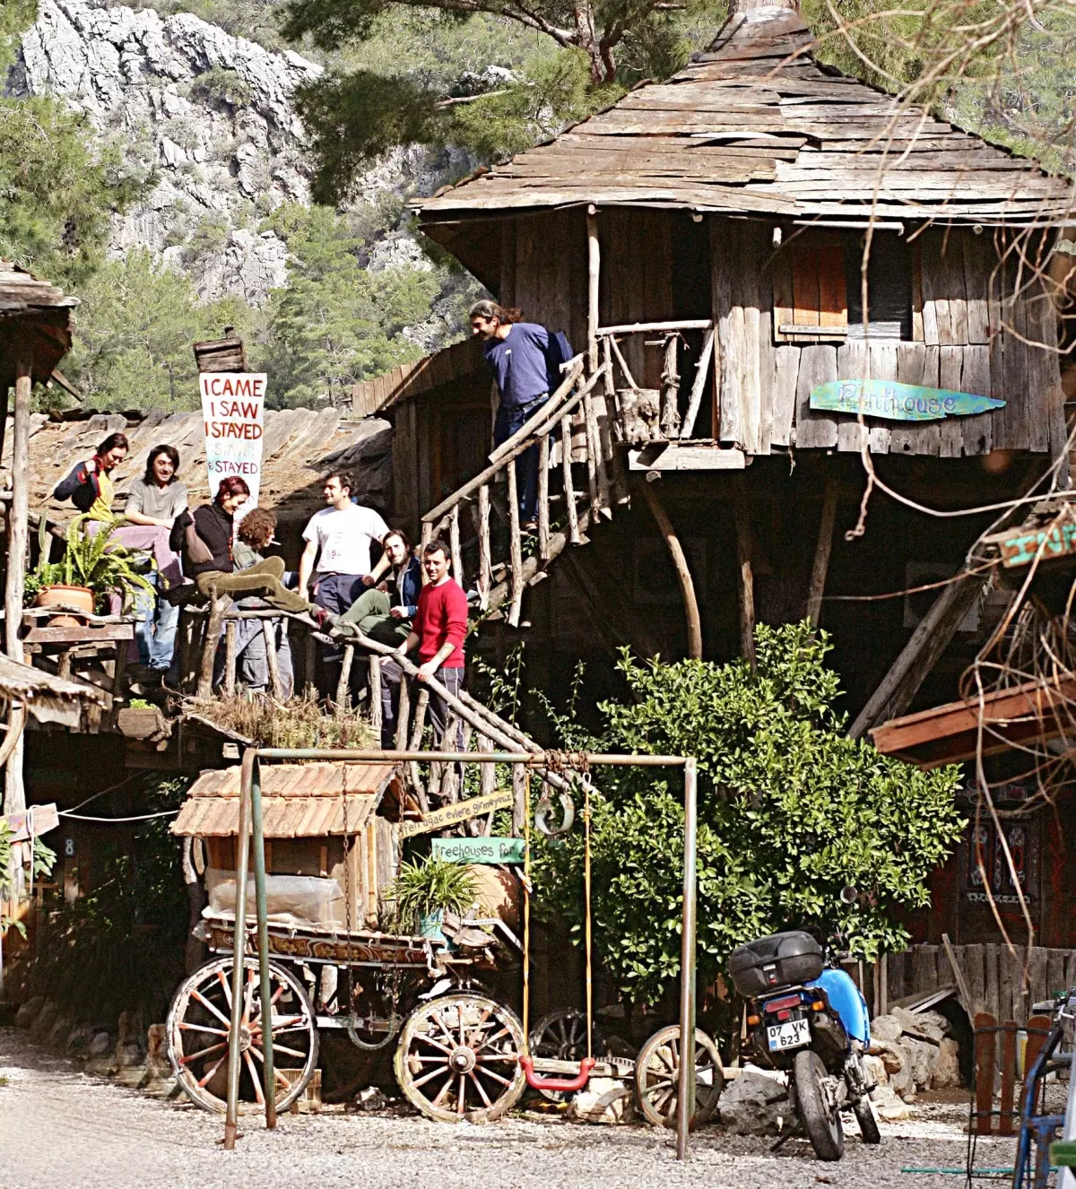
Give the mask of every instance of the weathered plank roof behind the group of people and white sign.
[{"label": "weathered plank roof behind the group of people and white sign", "polygon": [[[194,394],[196,395],[196,392]],[[0,483],[11,483],[11,426],[4,438]],[[51,498],[52,489],[88,459],[108,434],[124,433],[131,452],[113,472],[119,495],[145,472],[146,457],[162,442],[180,452],[180,478],[190,489],[193,504],[209,498],[206,473],[206,427],[201,413],[153,409],[145,416],[96,414],[77,421],[51,421],[45,414],[30,419],[30,507],[67,518],[69,503]],[[282,409],[265,413],[265,445],[260,503],[278,515],[307,517],[325,505],[321,478],[342,467],[357,482],[363,499],[386,505],[391,483],[391,429],[385,421],[351,421],[336,409]]]}]

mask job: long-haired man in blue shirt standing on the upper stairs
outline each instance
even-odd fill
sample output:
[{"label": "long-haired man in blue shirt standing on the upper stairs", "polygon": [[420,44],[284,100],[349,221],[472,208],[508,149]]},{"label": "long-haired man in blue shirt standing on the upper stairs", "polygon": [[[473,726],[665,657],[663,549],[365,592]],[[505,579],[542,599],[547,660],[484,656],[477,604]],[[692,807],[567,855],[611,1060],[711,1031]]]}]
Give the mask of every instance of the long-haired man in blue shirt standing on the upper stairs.
[{"label": "long-haired man in blue shirt standing on the upper stairs", "polygon": [[[492,301],[471,307],[471,333],[485,344],[483,354],[493,373],[501,405],[493,423],[493,448],[504,445],[539,411],[560,385],[560,366],[572,358],[568,340],[560,332],[522,321],[517,309]],[[520,526],[537,528],[537,443],[516,459]]]}]

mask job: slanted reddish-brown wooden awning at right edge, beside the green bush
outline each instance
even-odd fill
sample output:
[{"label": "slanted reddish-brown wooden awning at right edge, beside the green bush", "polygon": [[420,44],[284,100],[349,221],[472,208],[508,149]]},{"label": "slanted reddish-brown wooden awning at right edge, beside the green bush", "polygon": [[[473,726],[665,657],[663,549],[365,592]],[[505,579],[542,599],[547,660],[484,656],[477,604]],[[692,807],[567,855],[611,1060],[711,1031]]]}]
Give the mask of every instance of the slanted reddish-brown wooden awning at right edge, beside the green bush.
[{"label": "slanted reddish-brown wooden awning at right edge, beside the green bush", "polygon": [[1028,741],[1044,743],[1074,729],[1071,703],[1076,680],[1028,681],[996,690],[977,700],[949,702],[915,715],[893,718],[870,732],[882,755],[917,767],[938,768],[975,757],[982,715],[982,753],[996,755]]}]

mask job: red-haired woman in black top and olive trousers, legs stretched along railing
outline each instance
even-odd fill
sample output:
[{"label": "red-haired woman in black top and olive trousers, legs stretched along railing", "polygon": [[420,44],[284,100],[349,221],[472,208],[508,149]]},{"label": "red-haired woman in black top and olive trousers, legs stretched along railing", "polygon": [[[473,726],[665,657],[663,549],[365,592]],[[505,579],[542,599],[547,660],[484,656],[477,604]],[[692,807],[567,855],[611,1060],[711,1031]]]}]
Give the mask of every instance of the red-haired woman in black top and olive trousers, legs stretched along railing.
[{"label": "red-haired woman in black top and olive trousers, legs stretched along railing", "polygon": [[309,612],[316,617],[317,608],[284,586],[283,558],[265,558],[246,570],[235,571],[232,555],[234,516],[250,499],[250,493],[246,479],[228,474],[220,480],[212,504],[202,504],[194,512],[183,511],[176,517],[169,543],[177,553],[182,552],[183,573],[194,579],[202,596],[208,596],[210,587],[216,587],[218,594],[262,594],[282,611]]}]

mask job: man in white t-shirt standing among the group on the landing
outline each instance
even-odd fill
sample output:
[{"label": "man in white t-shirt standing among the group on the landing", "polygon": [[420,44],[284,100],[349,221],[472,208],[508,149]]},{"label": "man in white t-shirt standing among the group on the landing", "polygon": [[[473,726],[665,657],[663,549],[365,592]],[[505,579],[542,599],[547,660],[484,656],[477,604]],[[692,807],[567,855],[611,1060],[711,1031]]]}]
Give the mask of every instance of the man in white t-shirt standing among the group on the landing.
[{"label": "man in white t-shirt standing among the group on the landing", "polygon": [[[370,546],[389,531],[372,508],[351,502],[351,476],[334,472],[322,486],[326,507],[314,512],[303,530],[307,542],[298,562],[298,590],[334,615],[342,615],[373,585]],[[310,579],[316,572],[313,592]]]}]

